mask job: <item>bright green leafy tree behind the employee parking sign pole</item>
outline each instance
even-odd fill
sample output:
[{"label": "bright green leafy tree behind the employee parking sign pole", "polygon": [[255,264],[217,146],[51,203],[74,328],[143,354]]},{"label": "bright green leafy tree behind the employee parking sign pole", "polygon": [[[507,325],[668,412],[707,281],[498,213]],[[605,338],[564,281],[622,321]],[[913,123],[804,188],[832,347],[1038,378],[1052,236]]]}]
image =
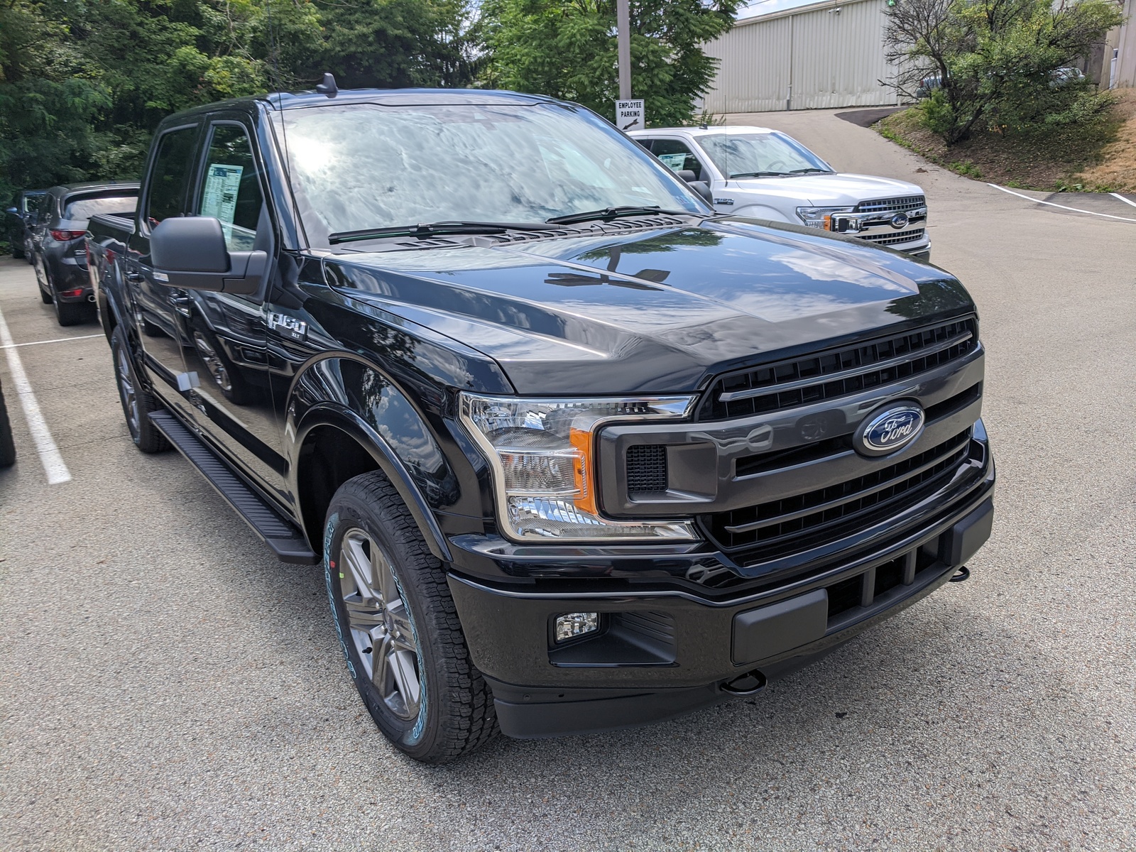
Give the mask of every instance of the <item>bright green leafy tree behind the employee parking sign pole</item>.
[{"label": "bright green leafy tree behind the employee parking sign pole", "polygon": [[[713,81],[702,45],[729,30],[737,0],[630,0],[632,92],[653,126],[686,124]],[[615,0],[486,0],[484,81],[576,101],[609,119],[618,97]]]}]

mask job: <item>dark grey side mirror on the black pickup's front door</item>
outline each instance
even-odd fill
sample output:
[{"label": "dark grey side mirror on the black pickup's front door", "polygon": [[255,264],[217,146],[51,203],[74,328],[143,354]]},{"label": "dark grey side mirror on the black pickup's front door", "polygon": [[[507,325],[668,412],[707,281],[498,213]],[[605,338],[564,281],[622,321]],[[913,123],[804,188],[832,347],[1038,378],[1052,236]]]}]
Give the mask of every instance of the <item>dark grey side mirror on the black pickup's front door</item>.
[{"label": "dark grey side mirror on the black pickup's front door", "polygon": [[264,251],[229,251],[220,220],[169,218],[150,234],[153,277],[170,287],[251,295],[268,268]]}]

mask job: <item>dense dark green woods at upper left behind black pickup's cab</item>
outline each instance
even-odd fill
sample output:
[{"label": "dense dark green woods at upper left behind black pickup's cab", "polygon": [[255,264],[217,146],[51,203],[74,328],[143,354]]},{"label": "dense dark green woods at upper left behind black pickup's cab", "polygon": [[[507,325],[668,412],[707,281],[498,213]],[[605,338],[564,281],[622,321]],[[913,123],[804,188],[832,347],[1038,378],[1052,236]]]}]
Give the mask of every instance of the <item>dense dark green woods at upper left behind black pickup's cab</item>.
[{"label": "dense dark green woods at upper left behind black pickup's cab", "polygon": [[0,200],[136,177],[162,117],[270,90],[466,85],[468,0],[0,0]]}]

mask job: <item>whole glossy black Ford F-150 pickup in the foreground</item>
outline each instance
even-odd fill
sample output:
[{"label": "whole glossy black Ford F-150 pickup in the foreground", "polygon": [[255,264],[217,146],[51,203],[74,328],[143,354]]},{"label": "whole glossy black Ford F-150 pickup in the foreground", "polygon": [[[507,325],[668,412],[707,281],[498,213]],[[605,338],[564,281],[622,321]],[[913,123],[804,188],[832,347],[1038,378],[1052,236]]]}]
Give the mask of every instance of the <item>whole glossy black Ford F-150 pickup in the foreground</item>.
[{"label": "whole glossy black Ford F-150 pickup in the foreground", "polygon": [[87,240],[134,442],[323,563],[346,667],[418,760],[757,692],[989,535],[962,285],[716,215],[576,105],[193,109],[136,217]]}]

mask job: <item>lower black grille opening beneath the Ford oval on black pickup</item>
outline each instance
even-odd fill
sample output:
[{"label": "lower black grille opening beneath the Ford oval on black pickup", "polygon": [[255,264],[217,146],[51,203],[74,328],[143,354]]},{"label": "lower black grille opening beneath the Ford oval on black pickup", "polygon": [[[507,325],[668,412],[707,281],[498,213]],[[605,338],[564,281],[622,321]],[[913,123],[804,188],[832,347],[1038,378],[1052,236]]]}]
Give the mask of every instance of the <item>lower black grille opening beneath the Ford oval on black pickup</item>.
[{"label": "lower black grille opening beneath the Ford oval on black pickup", "polygon": [[934,493],[970,453],[970,428],[889,467],[805,494],[703,515],[703,531],[743,563],[836,541]]}]

